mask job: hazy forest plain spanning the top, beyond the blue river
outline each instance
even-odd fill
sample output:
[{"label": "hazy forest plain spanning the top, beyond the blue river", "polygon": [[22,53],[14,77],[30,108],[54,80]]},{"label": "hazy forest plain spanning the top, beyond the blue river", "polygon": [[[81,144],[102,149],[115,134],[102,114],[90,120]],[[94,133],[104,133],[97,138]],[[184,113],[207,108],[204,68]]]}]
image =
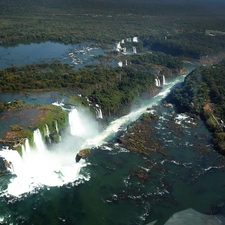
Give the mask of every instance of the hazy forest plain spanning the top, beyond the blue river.
[{"label": "hazy forest plain spanning the top, beyond the blue river", "polygon": [[0,43],[113,44],[138,36],[143,47],[199,59],[225,50],[224,5],[174,1],[0,1]]}]

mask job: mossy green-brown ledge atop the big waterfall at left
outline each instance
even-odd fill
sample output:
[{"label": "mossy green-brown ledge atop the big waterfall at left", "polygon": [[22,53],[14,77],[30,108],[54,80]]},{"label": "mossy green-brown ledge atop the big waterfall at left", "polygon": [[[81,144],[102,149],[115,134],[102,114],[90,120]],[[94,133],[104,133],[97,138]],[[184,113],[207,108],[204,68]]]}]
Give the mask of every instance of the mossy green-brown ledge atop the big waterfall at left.
[{"label": "mossy green-brown ledge atop the big waterfall at left", "polygon": [[[13,149],[17,149],[21,152],[21,144],[24,144],[26,139],[29,140],[30,144],[33,144],[33,131],[39,129],[42,134],[46,132],[46,125],[48,126],[50,132],[51,142],[59,141],[59,134],[56,130],[56,123],[59,132],[65,129],[68,125],[68,113],[63,111],[60,107],[54,105],[40,105],[40,106],[24,106],[20,108],[26,115],[26,110],[32,108],[32,110],[38,111],[38,116],[33,118],[27,115],[27,120],[31,121],[29,126],[25,126],[23,121],[19,124],[13,124],[10,126],[10,131],[8,131],[0,139],[1,143],[9,145]],[[17,109],[18,110],[18,109]]]}]

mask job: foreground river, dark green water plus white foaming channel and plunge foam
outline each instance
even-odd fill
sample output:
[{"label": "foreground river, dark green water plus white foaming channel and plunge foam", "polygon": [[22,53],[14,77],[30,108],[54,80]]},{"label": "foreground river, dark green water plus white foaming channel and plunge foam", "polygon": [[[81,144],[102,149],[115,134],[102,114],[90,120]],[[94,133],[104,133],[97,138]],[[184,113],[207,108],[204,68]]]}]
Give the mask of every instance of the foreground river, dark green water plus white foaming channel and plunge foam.
[{"label": "foreground river, dark green water plus white foaming channel and plunge foam", "polygon": [[[58,147],[42,151],[44,158],[38,153],[28,156],[27,162],[24,157],[25,170],[19,166],[17,172],[0,177],[0,224],[145,225],[155,220],[164,224],[188,208],[224,216],[225,159],[213,149],[211,133],[202,121],[176,114],[170,105],[160,106],[183,79],[166,81],[157,96],[99,134],[86,135],[94,122],[84,121],[78,109],[72,122],[82,128],[76,136],[86,135],[81,145],[67,134]],[[118,135],[124,135],[121,126],[138,119],[146,108],[159,118],[151,124],[150,135],[163,146],[164,155],[130,152],[117,142]],[[76,164],[81,146],[92,146],[92,154]],[[51,168],[59,159],[60,165]],[[138,179],[137,171],[146,179]]]}]

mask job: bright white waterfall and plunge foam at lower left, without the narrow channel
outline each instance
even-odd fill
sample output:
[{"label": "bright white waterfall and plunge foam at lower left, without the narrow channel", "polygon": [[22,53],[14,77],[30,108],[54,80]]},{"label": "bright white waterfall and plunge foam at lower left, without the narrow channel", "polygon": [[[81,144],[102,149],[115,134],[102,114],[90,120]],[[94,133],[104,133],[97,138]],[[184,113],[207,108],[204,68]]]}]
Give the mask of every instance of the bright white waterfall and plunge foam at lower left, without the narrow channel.
[{"label": "bright white waterfall and plunge foam at lower left, without the narrow channel", "polygon": [[[85,115],[86,116],[86,115]],[[11,179],[6,194],[20,196],[23,193],[33,192],[37,188],[47,186],[61,186],[77,179],[89,179],[80,174],[80,169],[86,165],[84,160],[75,163],[75,155],[80,150],[77,138],[91,137],[95,132],[90,126],[91,122],[82,121],[82,116],[76,109],[69,113],[70,133],[72,137],[65,138],[51,151],[45,145],[39,129],[33,133],[33,144],[28,139],[22,146],[22,157],[15,150],[4,149],[0,156],[12,163],[12,173],[16,175]],[[75,138],[76,136],[76,138]]]}]

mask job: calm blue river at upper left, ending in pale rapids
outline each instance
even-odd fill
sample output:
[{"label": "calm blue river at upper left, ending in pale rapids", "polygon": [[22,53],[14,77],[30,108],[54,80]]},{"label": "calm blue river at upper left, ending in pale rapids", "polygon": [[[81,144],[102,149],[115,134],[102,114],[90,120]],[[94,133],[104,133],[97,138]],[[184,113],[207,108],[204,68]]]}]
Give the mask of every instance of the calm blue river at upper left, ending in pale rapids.
[{"label": "calm blue river at upper left, ending in pale rapids", "polygon": [[98,64],[99,61],[94,56],[104,55],[105,51],[93,43],[65,45],[43,42],[40,44],[0,46],[0,69],[58,60],[61,63],[73,65],[74,69],[77,70],[87,65]]}]

